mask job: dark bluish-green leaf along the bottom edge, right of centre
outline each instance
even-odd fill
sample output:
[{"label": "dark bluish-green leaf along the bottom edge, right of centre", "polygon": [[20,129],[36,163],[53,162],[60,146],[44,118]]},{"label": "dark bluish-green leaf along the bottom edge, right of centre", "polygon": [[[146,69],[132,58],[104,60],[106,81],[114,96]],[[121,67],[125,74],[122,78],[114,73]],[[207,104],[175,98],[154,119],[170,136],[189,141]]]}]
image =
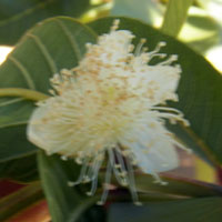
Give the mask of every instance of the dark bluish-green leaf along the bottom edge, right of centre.
[{"label": "dark bluish-green leaf along the bottom edge, right of centre", "polygon": [[108,211],[108,222],[220,222],[221,218],[221,196],[147,203],[142,206],[115,203]]}]

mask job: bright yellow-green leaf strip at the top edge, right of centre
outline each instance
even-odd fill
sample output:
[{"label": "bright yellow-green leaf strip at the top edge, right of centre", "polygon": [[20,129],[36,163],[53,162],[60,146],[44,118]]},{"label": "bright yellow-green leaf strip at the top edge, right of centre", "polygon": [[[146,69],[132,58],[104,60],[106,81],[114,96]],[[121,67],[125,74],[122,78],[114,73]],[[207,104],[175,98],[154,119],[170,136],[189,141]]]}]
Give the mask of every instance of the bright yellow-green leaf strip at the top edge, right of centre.
[{"label": "bright yellow-green leaf strip at the top edge, right of centre", "polygon": [[188,10],[193,0],[169,0],[163,19],[162,31],[169,36],[176,37],[185,22]]}]

